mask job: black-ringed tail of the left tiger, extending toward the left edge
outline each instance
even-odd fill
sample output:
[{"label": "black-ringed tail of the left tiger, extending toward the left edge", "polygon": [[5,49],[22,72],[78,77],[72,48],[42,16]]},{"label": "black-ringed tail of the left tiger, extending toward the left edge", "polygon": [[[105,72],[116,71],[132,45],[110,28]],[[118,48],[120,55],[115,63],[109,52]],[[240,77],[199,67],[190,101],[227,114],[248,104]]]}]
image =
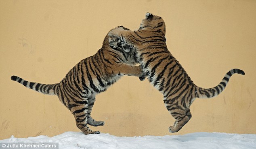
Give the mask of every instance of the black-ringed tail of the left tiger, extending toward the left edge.
[{"label": "black-ringed tail of the left tiger, extending toward the left edge", "polygon": [[59,83],[57,84],[40,84],[26,81],[20,77],[12,76],[10,78],[13,81],[19,82],[29,89],[33,89],[34,91],[38,91],[39,93],[48,94],[48,95],[57,95],[57,88]]}]

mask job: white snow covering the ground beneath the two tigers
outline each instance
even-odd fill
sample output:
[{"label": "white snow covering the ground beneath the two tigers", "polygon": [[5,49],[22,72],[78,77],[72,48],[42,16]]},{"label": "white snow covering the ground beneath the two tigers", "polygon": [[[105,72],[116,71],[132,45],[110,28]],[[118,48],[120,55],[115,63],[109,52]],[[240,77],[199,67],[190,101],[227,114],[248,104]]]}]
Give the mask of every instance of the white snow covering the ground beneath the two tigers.
[{"label": "white snow covering the ground beneath the two tigers", "polygon": [[196,132],[187,135],[116,137],[64,132],[54,137],[38,136],[0,140],[0,143],[59,143],[59,149],[256,149],[255,134]]}]

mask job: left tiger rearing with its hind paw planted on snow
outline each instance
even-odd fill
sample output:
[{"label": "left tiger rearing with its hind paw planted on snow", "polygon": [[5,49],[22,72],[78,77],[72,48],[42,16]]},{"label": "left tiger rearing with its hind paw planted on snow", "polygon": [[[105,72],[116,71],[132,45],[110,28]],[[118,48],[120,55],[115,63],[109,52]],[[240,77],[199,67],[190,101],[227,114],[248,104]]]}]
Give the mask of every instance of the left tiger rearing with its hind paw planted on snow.
[{"label": "left tiger rearing with its hind paw planted on snow", "polygon": [[[117,28],[127,29],[123,26]],[[92,131],[87,126],[87,124],[90,126],[105,124],[90,116],[95,95],[106,91],[124,75],[136,77],[143,75],[141,67],[135,65],[138,63],[135,50],[125,47],[125,43],[116,41],[117,38],[112,38],[110,43],[108,39],[107,34],[101,49],[95,55],[78,62],[59,83],[34,83],[17,76],[12,76],[11,80],[43,94],[57,95],[59,101],[73,114],[76,126],[85,135],[100,134],[99,131]],[[119,45],[120,42],[122,46]]]}]

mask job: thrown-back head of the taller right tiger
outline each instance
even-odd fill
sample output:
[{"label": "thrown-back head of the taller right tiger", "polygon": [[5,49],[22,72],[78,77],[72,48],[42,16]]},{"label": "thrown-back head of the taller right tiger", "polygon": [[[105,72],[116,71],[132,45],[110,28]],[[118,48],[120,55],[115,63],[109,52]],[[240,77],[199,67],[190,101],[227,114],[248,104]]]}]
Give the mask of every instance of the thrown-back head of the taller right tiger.
[{"label": "thrown-back head of the taller right tiger", "polygon": [[151,29],[153,32],[160,33],[163,37],[165,37],[165,23],[164,20],[159,16],[155,16],[147,12],[146,18],[142,20],[139,29],[143,28]]}]

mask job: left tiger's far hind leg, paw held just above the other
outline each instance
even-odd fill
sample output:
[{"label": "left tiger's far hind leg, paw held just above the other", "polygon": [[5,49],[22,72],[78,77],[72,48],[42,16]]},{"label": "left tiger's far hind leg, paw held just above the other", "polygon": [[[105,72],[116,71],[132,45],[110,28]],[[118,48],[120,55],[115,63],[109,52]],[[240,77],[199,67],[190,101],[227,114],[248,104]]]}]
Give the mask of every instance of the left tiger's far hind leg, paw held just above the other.
[{"label": "left tiger's far hind leg, paw held just above the other", "polygon": [[95,97],[91,97],[88,99],[87,123],[90,126],[94,126],[94,127],[103,126],[105,124],[105,122],[103,122],[101,120],[96,121],[91,117],[91,112],[92,112],[92,107],[94,105],[94,101],[95,101]]}]

